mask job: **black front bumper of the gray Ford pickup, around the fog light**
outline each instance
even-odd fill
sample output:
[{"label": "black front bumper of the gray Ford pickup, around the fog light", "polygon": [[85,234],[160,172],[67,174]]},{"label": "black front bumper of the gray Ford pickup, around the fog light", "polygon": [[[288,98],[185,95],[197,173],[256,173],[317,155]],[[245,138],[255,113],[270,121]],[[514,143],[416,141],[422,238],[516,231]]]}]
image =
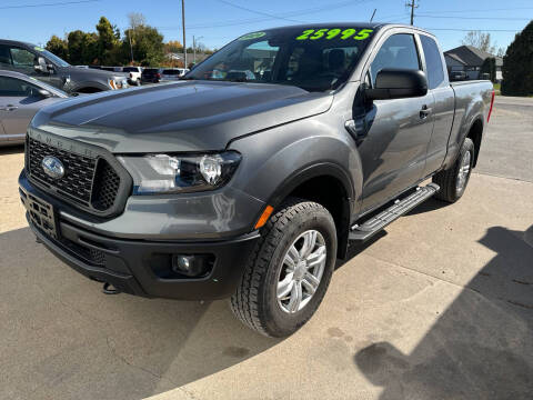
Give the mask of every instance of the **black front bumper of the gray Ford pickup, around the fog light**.
[{"label": "black front bumper of the gray Ford pickup, around the fog light", "polygon": [[[21,201],[29,208],[36,198],[59,210],[62,203],[19,179]],[[111,238],[68,221],[56,212],[58,238],[38,227],[27,213],[38,239],[68,266],[93,280],[111,283],[119,291],[153,298],[214,300],[237,289],[247,261],[259,239],[258,232],[224,240],[141,240]],[[172,254],[212,254],[210,272],[201,278],[167,273]]]}]

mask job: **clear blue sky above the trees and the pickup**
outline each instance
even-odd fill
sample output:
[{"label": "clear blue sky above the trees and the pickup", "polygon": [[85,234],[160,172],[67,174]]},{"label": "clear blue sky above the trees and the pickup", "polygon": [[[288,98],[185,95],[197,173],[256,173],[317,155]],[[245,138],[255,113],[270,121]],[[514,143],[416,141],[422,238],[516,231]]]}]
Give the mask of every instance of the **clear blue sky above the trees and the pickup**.
[{"label": "clear blue sky above the trees and the pickup", "polygon": [[[78,3],[67,4],[71,1]],[[84,1],[84,2],[83,2]],[[27,7],[59,3],[49,7]],[[409,23],[406,0],[185,0],[188,46],[192,36],[208,47],[221,47],[254,30],[298,22],[374,21]],[[238,7],[231,6],[237,4]],[[484,30],[497,47],[506,47],[516,31],[533,19],[532,0],[419,0],[415,24],[433,31],[444,50],[461,44],[465,31]],[[239,8],[240,7],[240,8]],[[249,9],[249,10],[245,10]],[[250,11],[251,10],[251,11]],[[129,12],[141,12],[167,40],[182,41],[181,0],[2,0],[0,38],[46,44],[52,34],[93,31],[100,16],[123,28]],[[255,12],[252,12],[255,11]],[[272,18],[278,17],[278,18]]]}]

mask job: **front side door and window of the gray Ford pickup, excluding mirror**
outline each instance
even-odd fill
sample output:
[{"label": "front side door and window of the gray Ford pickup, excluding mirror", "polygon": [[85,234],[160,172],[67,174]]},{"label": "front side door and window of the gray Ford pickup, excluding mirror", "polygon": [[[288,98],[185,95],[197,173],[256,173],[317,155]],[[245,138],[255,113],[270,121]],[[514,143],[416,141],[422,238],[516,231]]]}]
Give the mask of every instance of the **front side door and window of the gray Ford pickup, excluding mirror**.
[{"label": "front side door and window of the gray Ford pickup, excluding mirror", "polygon": [[[373,84],[385,68],[422,70],[416,40],[410,33],[388,37],[368,70],[366,84]],[[424,171],[431,138],[433,96],[375,100],[364,114],[365,136],[359,143],[363,164],[362,211],[380,206],[410,186]]]}]

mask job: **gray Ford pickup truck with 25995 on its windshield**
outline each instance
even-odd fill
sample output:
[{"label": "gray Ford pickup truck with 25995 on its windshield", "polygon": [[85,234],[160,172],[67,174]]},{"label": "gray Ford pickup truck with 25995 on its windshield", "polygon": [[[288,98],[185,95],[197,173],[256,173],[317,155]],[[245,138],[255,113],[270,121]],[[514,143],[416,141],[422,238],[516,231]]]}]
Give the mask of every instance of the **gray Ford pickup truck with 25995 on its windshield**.
[{"label": "gray Ford pickup truck with 25995 on its windshield", "polygon": [[182,81],[41,110],[21,200],[38,240],[104,292],[231,298],[247,326],[283,337],[349,242],[462,197],[493,96],[450,84],[413,27],[258,31]]}]

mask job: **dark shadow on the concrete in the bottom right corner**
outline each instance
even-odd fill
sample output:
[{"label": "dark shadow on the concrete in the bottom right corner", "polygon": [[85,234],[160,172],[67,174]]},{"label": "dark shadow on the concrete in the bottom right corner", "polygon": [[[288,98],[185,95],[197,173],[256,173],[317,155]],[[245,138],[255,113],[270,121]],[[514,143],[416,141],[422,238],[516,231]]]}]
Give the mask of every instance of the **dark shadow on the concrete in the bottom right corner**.
[{"label": "dark shadow on the concrete in the bottom right corner", "polygon": [[415,349],[372,343],[354,362],[389,399],[531,399],[533,227],[493,227],[480,242],[495,257]]}]

